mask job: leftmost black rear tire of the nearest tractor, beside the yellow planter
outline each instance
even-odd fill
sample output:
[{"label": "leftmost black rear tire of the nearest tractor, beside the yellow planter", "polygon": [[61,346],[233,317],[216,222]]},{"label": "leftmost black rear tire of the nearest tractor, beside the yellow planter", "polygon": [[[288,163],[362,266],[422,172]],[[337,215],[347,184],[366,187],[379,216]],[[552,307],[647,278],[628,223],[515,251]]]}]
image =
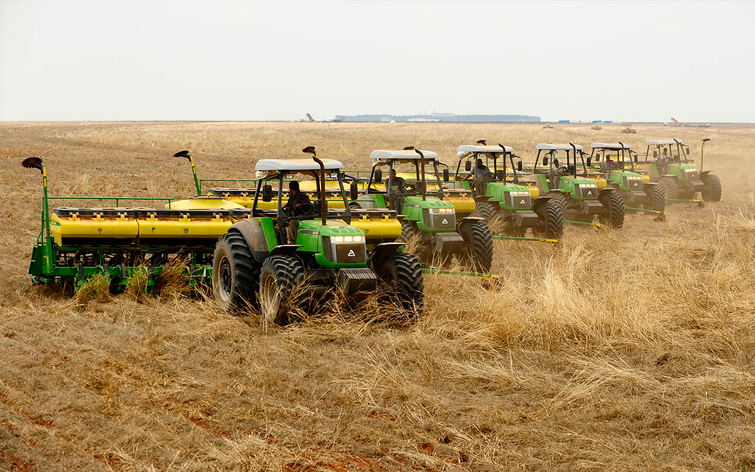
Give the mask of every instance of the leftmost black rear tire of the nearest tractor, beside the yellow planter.
[{"label": "leftmost black rear tire of the nearest tractor, beside the yellow planter", "polygon": [[261,266],[240,233],[221,236],[212,259],[212,293],[218,308],[237,313],[256,307]]}]

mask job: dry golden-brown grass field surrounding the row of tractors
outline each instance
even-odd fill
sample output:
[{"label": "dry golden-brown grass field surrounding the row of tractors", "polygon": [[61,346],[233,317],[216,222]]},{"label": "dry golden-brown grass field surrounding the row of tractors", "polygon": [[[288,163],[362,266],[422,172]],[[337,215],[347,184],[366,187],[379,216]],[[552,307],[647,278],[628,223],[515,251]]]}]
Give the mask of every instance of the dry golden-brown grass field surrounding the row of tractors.
[{"label": "dry golden-brown grass field surrounding the row of tractors", "polygon": [[[0,123],[0,471],[755,470],[755,127]],[[678,137],[723,200],[495,241],[501,283],[426,275],[406,326],[375,303],[285,328],[181,290],[71,297],[27,275],[53,195],[192,194],[307,145],[349,169],[415,145]]]}]

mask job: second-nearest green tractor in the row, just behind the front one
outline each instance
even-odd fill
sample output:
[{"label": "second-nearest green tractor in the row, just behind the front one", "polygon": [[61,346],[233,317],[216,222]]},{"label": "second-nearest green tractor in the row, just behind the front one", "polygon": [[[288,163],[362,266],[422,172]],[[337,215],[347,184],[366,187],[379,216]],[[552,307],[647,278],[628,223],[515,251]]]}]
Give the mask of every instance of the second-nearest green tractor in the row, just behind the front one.
[{"label": "second-nearest green tractor in the row, just behind the front one", "polygon": [[[490,230],[480,217],[468,216],[457,221],[454,206],[443,201],[436,153],[408,147],[375,150],[370,159],[372,171],[367,196],[399,213],[401,240],[409,241],[416,235],[417,252],[423,261],[443,263],[455,256],[472,270],[490,271],[493,264]],[[433,176],[431,182],[426,181],[426,168],[432,169],[427,174]],[[385,180],[384,170],[388,172]],[[448,169],[443,174],[444,180],[448,180]]]}]

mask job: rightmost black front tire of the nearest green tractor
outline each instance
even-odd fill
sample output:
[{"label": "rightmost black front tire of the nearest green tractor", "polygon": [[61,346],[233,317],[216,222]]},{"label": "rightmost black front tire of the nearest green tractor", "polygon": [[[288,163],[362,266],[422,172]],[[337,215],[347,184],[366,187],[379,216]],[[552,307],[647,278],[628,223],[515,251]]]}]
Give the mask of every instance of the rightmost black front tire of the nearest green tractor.
[{"label": "rightmost black front tire of the nearest green tractor", "polygon": [[394,252],[378,268],[378,278],[387,286],[391,299],[406,311],[410,318],[422,313],[425,303],[422,266],[417,258],[406,252]]}]

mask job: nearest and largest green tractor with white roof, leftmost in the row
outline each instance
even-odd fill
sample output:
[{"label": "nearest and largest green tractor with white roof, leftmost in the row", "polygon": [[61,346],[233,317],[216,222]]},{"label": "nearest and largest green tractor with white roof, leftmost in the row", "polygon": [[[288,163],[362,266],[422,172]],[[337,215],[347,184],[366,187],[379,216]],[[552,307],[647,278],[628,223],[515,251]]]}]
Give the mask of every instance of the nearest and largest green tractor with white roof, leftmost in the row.
[{"label": "nearest and largest green tractor with white roof, leftmost in the row", "polygon": [[[319,159],[313,147],[304,149],[312,159],[261,159],[251,217],[236,222],[215,247],[212,286],[221,309],[259,306],[268,323],[285,323],[292,296],[304,290],[310,296],[332,293],[370,293],[378,284],[392,293],[401,308],[415,315],[423,306],[422,268],[417,258],[402,252],[403,244],[385,242],[368,252],[362,230],[351,226],[351,213],[336,160]],[[326,173],[336,179],[344,208],[328,210]],[[284,181],[315,181],[316,200],[298,210],[283,204]],[[273,201],[274,209],[261,208]],[[295,243],[287,244],[287,229],[295,228]]]}]

